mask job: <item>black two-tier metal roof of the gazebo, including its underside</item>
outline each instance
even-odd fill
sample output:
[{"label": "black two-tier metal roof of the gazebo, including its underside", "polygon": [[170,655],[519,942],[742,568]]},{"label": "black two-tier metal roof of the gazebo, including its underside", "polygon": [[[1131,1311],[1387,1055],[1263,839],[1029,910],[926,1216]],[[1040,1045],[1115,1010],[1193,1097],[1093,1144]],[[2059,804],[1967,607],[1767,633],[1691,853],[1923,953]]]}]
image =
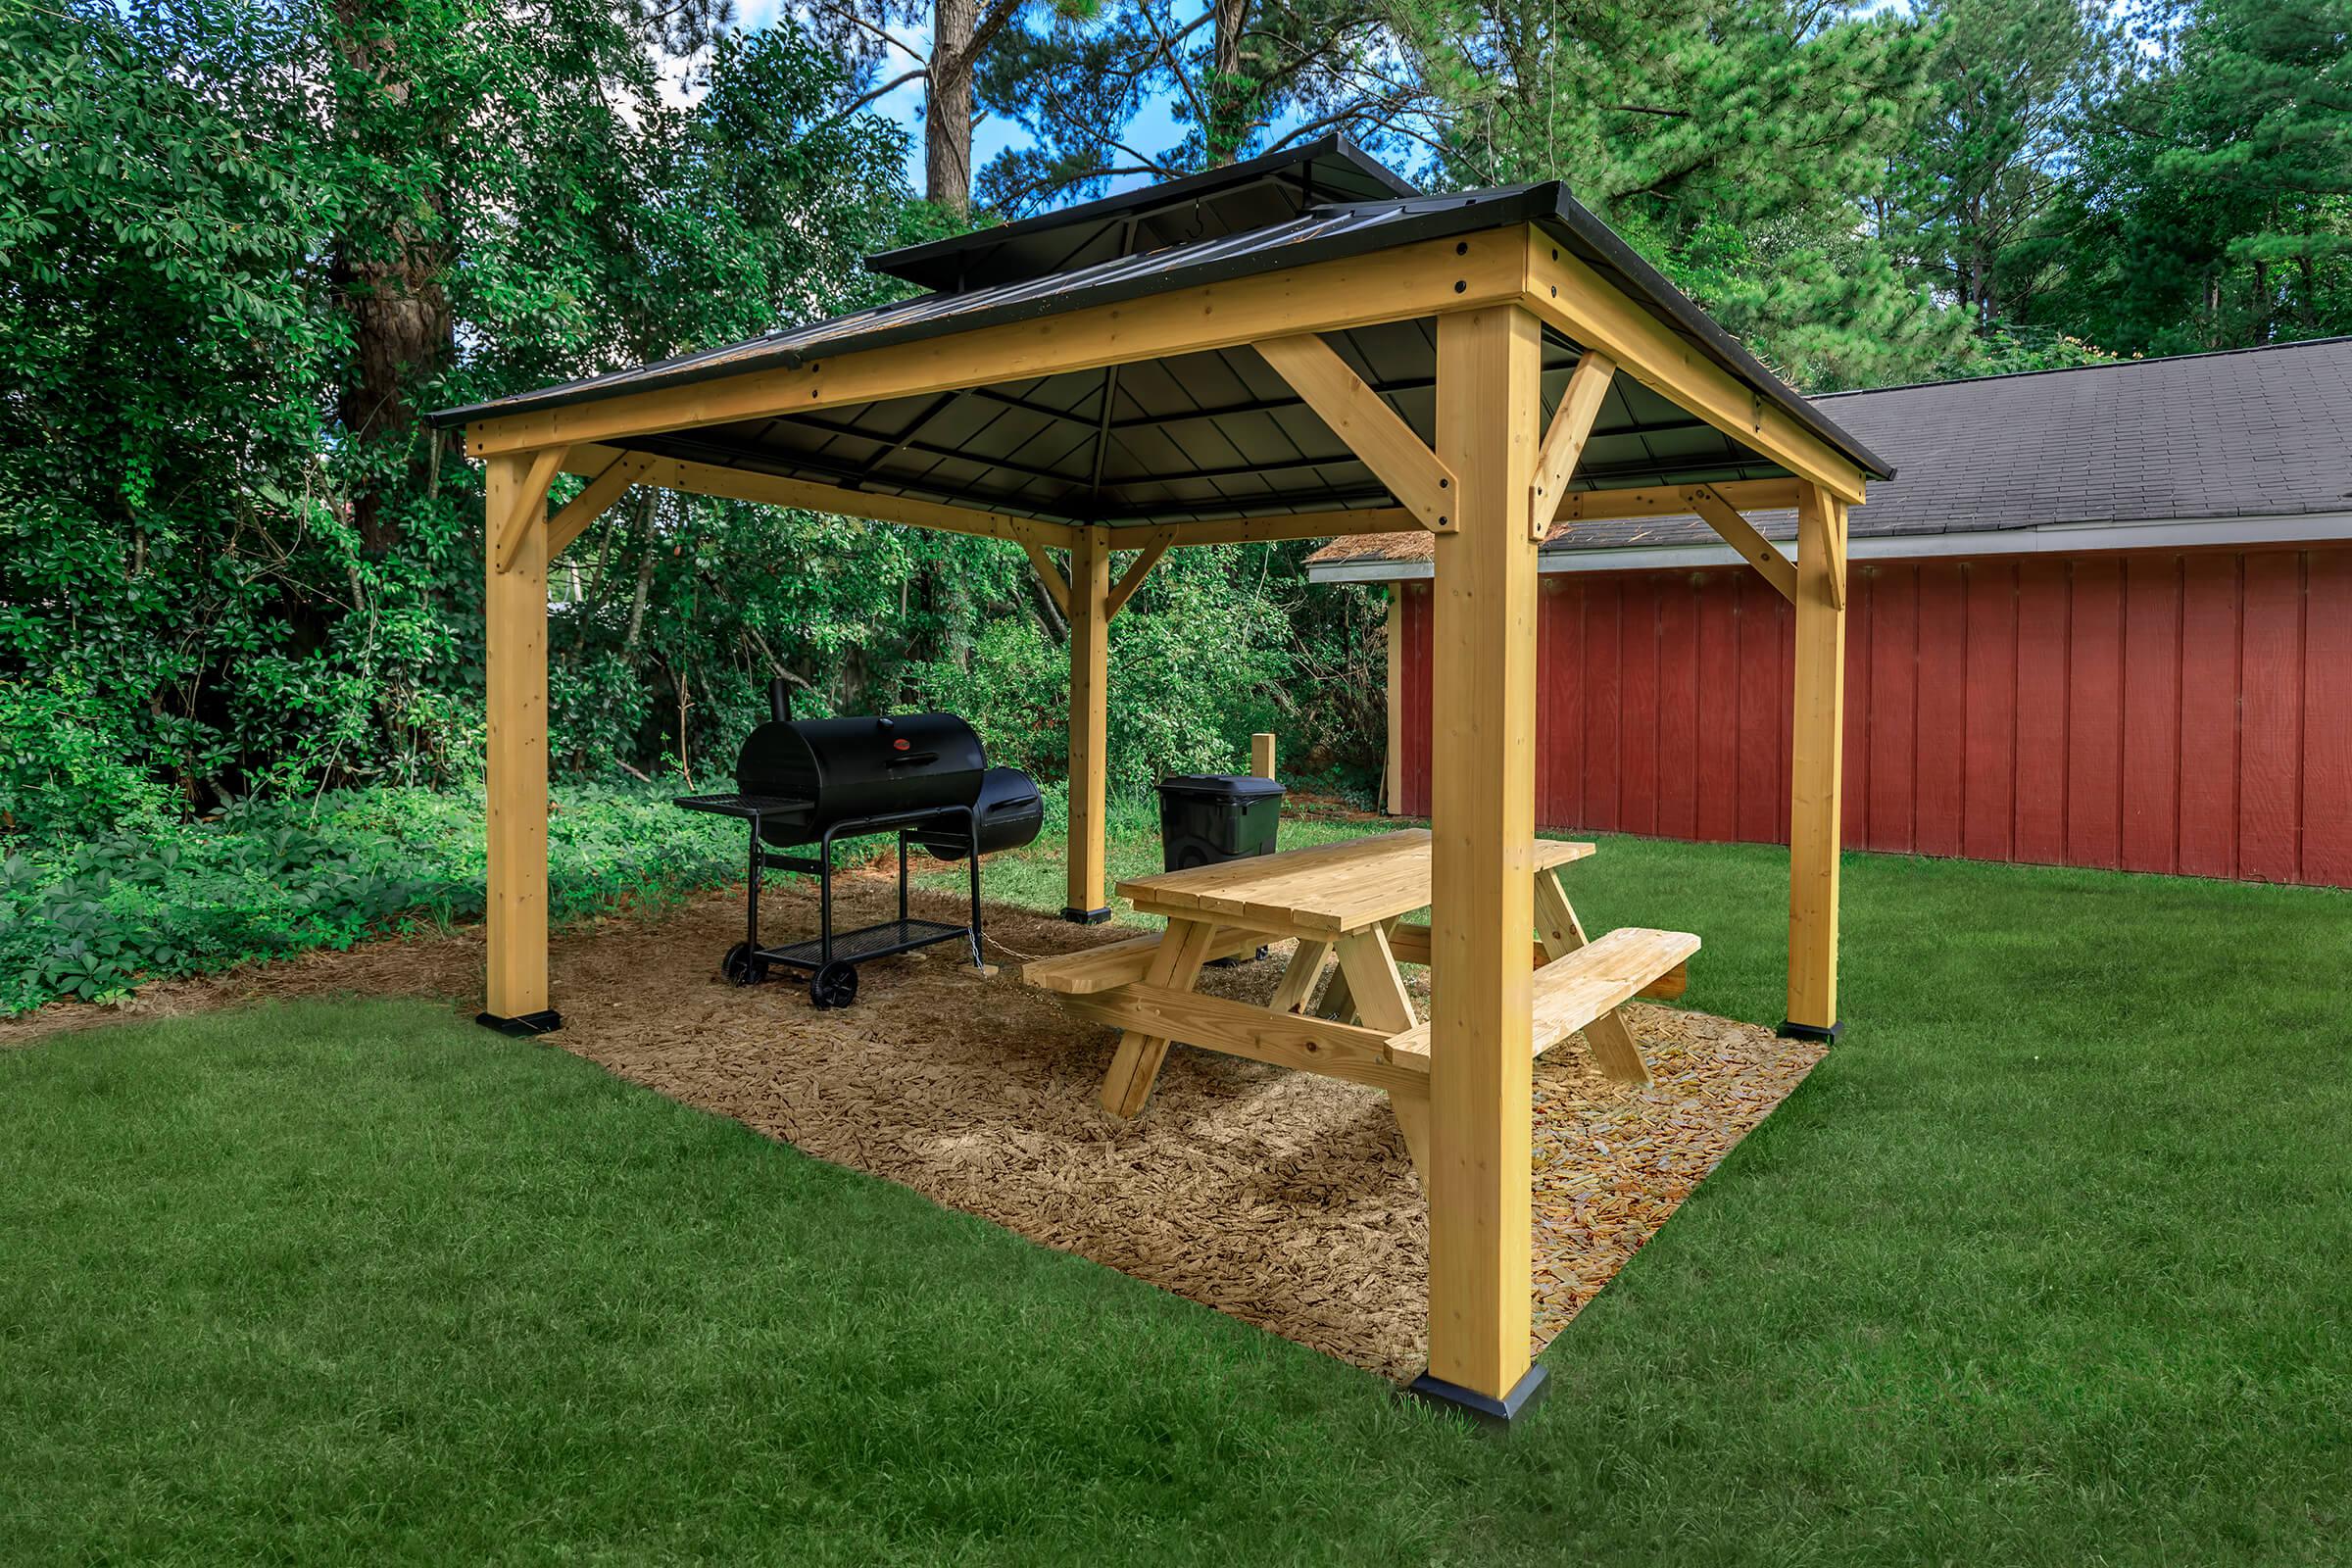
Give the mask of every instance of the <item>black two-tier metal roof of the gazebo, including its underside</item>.
[{"label": "black two-tier metal roof of the gazebo, including its underside", "polygon": [[[1740,348],[1632,254],[1564,183],[1421,195],[1324,139],[1103,202],[887,252],[870,268],[934,292],[656,364],[435,414],[459,425],[560,409],[830,355],[1028,322],[1178,287],[1534,223],[1562,252],[1851,458],[1893,470]],[[1329,334],[1423,440],[1435,428],[1435,322]],[[1545,329],[1543,402],[1578,348]],[[626,451],[809,480],[880,496],[955,501],[1049,522],[1152,527],[1185,520],[1378,508],[1388,489],[1249,348],[779,414],[612,442]],[[1609,388],[1576,489],[1717,484],[1788,468],[1630,376]]]}]

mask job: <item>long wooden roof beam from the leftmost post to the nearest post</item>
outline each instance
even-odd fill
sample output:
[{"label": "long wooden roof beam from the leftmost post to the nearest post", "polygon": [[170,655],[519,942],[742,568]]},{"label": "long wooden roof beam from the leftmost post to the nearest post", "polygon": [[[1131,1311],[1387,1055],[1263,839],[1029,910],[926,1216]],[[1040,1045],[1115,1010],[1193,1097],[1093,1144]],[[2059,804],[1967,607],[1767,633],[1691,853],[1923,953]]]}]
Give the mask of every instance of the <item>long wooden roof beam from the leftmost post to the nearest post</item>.
[{"label": "long wooden roof beam from the leftmost post to the nearest post", "polygon": [[1028,322],[887,343],[795,369],[713,376],[562,409],[482,418],[466,428],[466,451],[487,456],[553,442],[609,442],[783,411],[814,414],[854,402],[1033,381],[1301,331],[1345,331],[1470,310],[1515,301],[1524,287],[1526,233],[1501,228],[1468,240],[1425,240]]}]

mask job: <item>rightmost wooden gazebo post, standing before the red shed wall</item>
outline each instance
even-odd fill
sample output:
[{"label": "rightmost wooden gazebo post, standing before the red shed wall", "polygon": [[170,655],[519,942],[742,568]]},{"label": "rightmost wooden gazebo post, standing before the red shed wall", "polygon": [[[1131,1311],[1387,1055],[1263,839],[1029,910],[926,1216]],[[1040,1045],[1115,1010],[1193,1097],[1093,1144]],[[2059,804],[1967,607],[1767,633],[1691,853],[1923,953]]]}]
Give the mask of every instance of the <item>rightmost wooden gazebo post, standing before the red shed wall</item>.
[{"label": "rightmost wooden gazebo post, standing before the red shed wall", "polygon": [[1846,508],[1797,496],[1797,712],[1790,729],[1788,1020],[1837,1037],[1837,851],[1846,752]]}]

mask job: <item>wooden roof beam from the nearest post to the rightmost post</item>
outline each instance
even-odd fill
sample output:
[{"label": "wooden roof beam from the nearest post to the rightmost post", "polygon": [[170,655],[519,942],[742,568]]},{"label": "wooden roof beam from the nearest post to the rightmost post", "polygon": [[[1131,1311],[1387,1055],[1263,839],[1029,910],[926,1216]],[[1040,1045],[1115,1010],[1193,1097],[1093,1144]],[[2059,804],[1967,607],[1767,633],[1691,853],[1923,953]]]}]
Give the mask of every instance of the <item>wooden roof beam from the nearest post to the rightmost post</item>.
[{"label": "wooden roof beam from the nearest post to the rightmost post", "polygon": [[1837,501],[1863,498],[1851,458],[1710,360],[1672,327],[1609,287],[1599,273],[1531,228],[1526,306],[1583,348],[1611,355],[1635,381],[1656,388],[1686,414],[1762,451]]}]

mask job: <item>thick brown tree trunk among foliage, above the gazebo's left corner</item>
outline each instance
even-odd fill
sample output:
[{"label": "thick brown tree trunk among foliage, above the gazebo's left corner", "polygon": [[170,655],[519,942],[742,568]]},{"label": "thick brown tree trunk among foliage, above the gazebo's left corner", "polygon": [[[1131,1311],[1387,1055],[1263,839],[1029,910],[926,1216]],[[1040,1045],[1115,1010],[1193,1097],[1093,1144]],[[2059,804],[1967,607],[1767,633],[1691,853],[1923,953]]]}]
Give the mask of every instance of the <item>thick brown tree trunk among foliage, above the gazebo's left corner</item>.
[{"label": "thick brown tree trunk among foliage, above the gazebo's left corner", "polygon": [[[365,158],[397,165],[414,153],[419,125],[393,24],[376,14],[374,0],[336,0],[334,21],[343,63],[334,110],[339,139]],[[369,458],[358,465],[350,501],[360,543],[376,555],[400,543],[400,524],[386,505],[400,458],[419,484],[430,465],[430,449],[416,440],[409,388],[456,353],[442,287],[456,261],[442,226],[449,197],[433,188],[421,200],[421,221],[393,200],[362,207],[332,247],[336,299],[350,315],[350,371],[336,414]]]}]

